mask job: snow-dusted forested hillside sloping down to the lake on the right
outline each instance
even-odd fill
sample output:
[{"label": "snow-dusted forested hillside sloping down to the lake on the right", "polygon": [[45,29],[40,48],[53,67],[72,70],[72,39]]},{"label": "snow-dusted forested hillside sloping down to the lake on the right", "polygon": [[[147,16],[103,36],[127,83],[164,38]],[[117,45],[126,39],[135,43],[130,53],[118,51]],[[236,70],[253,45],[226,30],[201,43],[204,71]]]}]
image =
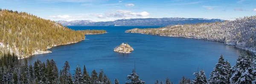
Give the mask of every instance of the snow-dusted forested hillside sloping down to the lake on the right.
[{"label": "snow-dusted forested hillside sloping down to the lake on the right", "polygon": [[256,16],[225,22],[134,28],[125,32],[220,41],[241,49],[256,51]]}]

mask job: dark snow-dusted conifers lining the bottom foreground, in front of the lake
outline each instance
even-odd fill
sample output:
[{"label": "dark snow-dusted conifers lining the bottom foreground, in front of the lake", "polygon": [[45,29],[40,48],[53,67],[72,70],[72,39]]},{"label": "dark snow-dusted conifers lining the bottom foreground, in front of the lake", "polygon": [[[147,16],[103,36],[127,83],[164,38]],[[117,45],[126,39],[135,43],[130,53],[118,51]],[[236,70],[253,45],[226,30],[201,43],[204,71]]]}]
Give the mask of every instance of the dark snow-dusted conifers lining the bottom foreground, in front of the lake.
[{"label": "dark snow-dusted conifers lining the bottom foreground, in front of the lake", "polygon": [[[198,70],[193,75],[193,80],[183,76],[179,84],[255,84],[256,60],[247,51],[239,55],[236,65],[231,66],[221,55],[208,80],[204,70]],[[135,70],[126,79],[130,81],[125,84],[145,84]],[[119,81],[114,79],[111,82],[102,69],[99,73],[93,70],[89,75],[85,65],[83,69],[77,65],[71,74],[68,61],[58,70],[54,60],[47,60],[46,63],[37,60],[34,65],[28,65],[26,58],[22,63],[15,54],[4,54],[0,58],[0,84],[119,84]],[[173,83],[166,78],[166,81],[157,80],[155,84]]]}]

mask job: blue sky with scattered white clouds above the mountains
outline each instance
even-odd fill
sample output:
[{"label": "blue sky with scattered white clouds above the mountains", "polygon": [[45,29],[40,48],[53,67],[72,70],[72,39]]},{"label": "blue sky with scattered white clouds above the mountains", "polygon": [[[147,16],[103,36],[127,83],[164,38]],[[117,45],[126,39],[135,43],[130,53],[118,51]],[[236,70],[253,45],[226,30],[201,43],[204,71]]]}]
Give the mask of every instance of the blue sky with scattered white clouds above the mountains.
[{"label": "blue sky with scattered white clouds above the mountains", "polygon": [[54,21],[163,17],[234,20],[255,16],[255,3],[256,0],[0,0],[0,8]]}]

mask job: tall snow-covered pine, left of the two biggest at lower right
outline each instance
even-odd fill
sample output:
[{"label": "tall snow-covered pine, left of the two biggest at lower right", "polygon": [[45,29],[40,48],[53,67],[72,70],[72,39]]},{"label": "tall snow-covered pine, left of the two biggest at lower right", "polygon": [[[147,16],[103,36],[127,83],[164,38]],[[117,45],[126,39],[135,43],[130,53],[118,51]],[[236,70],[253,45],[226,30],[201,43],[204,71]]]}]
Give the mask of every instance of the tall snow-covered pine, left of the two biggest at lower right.
[{"label": "tall snow-covered pine, left of the two biggest at lower right", "polygon": [[218,63],[212,70],[209,78],[209,84],[230,84],[230,71],[230,63],[228,61],[224,62],[224,58],[221,55]]}]

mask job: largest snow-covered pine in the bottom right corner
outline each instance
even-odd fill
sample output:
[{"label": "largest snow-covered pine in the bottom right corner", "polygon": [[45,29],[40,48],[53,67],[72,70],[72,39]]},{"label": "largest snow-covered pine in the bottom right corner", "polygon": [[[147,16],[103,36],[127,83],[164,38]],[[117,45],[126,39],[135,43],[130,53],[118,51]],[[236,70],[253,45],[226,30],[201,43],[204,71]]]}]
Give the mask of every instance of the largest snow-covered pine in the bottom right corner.
[{"label": "largest snow-covered pine in the bottom right corner", "polygon": [[236,65],[233,66],[230,83],[252,84],[254,80],[255,74],[253,73],[253,60],[250,54],[241,54],[236,60]]}]

